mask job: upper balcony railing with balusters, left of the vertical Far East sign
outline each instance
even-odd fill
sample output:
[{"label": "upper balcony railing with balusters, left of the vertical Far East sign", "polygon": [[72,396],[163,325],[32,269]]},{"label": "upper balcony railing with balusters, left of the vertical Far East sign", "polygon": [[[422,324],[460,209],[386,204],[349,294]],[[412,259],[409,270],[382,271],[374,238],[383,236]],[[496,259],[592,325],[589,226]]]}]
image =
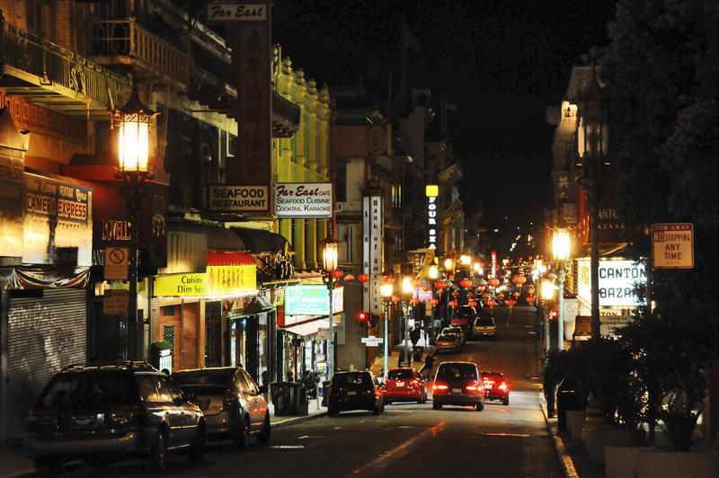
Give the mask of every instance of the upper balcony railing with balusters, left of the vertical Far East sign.
[{"label": "upper balcony railing with balusters, left of the vertical Far East sign", "polygon": [[125,57],[155,75],[167,75],[183,84],[190,82],[190,56],[139,26],[134,19],[93,20],[89,47],[103,63]]}]

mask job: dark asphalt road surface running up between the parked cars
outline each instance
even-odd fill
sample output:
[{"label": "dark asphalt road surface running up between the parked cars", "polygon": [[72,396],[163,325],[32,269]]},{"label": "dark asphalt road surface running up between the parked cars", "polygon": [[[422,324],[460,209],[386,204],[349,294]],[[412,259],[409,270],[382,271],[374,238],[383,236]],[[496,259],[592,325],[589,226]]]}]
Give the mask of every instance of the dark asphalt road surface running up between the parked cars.
[{"label": "dark asphalt road surface running up between the parked cars", "polygon": [[[459,354],[511,381],[510,404],[485,403],[483,412],[431,403],[388,405],[380,416],[342,412],[272,430],[271,443],[239,451],[212,445],[203,463],[173,456],[166,476],[506,476],[562,477],[539,408],[527,308],[495,309],[497,341],[470,341]],[[430,388],[431,390],[431,388]],[[141,465],[70,466],[66,476],[146,476]]]}]

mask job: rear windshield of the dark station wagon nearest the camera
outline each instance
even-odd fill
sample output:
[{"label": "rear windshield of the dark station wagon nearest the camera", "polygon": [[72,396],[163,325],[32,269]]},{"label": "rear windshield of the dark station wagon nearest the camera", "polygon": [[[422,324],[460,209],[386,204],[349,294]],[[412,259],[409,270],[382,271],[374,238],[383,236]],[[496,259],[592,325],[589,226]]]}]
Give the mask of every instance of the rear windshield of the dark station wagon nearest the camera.
[{"label": "rear windshield of the dark station wagon nearest the camera", "polygon": [[137,401],[129,373],[72,373],[56,376],[40,395],[39,406],[72,410]]}]

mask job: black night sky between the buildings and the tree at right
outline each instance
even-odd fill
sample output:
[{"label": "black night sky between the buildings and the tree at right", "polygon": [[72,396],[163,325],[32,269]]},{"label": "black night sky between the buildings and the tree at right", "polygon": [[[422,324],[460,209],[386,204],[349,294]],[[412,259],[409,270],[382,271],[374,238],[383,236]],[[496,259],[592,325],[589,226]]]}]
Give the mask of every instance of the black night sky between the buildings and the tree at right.
[{"label": "black night sky between the buildings and the tree at right", "polygon": [[390,72],[399,85],[404,19],[420,43],[409,85],[443,88],[458,106],[449,134],[466,213],[484,209],[490,227],[526,225],[544,222],[550,199],[546,107],[563,99],[581,55],[607,44],[615,3],[276,0],[273,40],[318,84],[362,78],[386,90]]}]

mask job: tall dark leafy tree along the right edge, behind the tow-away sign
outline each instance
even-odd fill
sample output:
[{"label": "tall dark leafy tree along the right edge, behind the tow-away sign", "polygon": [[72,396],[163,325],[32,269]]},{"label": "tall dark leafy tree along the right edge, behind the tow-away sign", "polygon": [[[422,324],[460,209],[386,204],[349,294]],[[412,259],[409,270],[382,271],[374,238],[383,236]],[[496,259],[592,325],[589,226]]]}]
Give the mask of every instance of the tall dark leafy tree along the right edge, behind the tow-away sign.
[{"label": "tall dark leafy tree along the right edge, behind the tow-away sign", "polygon": [[[657,308],[627,331],[644,373],[663,374],[644,378],[661,391],[658,412],[679,450],[692,444],[706,368],[719,353],[717,24],[713,0],[619,0],[602,61],[624,214],[640,230],[658,222],[695,226],[694,269],[653,270]],[[635,238],[646,256],[649,240]]]}]

